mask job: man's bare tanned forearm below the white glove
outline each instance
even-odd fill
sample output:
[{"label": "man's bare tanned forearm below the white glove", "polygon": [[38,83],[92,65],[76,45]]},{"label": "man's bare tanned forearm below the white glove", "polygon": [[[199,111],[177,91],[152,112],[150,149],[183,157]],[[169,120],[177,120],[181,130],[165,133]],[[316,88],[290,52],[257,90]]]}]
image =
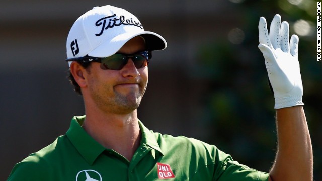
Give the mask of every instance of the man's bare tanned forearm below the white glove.
[{"label": "man's bare tanned forearm below the white glove", "polygon": [[278,149],[270,176],[278,180],[312,180],[311,139],[302,106],[277,109]]}]

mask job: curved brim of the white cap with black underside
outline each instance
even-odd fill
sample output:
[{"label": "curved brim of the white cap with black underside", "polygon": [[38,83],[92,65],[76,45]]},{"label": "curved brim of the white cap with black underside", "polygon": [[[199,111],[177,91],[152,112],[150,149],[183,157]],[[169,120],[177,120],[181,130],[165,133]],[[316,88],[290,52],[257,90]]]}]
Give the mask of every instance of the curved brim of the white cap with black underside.
[{"label": "curved brim of the white cap with black underside", "polygon": [[163,50],[167,48],[167,42],[162,36],[154,32],[143,31],[115,36],[113,39],[106,40],[100,46],[88,53],[88,55],[93,57],[111,56],[118,52],[127,41],[136,36],[142,36],[144,38],[146,51]]}]

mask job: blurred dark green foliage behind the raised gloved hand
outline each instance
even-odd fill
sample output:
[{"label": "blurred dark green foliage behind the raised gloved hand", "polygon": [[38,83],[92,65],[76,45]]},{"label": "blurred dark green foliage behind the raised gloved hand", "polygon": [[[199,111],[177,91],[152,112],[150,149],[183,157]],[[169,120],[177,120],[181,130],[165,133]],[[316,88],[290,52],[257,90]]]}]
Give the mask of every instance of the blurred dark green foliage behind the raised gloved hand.
[{"label": "blurred dark green foliage behind the raised gloved hand", "polygon": [[[302,1],[231,1],[240,10],[245,37],[232,44],[227,37],[200,48],[199,76],[209,81],[204,96],[209,119],[204,124],[216,128],[207,142],[229,153],[240,163],[269,171],[275,157],[276,128],[274,96],[268,87],[264,58],[258,49],[258,21],[261,16],[270,24],[275,14],[290,24],[299,19],[316,22],[316,2]],[[293,4],[291,4],[293,3]],[[314,151],[314,180],[322,174],[322,124],[320,94],[322,62],[316,58],[316,23],[309,36],[299,36],[299,61],[304,87],[303,102]],[[200,58],[201,57],[201,58]],[[245,157],[247,155],[247,158]],[[303,165],[305,166],[305,165]]]}]

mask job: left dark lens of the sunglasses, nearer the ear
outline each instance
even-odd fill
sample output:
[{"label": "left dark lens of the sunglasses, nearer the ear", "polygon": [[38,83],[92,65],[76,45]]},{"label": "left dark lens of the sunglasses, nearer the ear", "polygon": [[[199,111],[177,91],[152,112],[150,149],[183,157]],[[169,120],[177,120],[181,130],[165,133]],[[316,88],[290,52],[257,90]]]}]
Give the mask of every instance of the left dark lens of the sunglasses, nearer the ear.
[{"label": "left dark lens of the sunglasses, nearer the ear", "polygon": [[114,54],[112,56],[102,58],[101,68],[103,70],[121,70],[126,64],[126,56],[122,54]]}]

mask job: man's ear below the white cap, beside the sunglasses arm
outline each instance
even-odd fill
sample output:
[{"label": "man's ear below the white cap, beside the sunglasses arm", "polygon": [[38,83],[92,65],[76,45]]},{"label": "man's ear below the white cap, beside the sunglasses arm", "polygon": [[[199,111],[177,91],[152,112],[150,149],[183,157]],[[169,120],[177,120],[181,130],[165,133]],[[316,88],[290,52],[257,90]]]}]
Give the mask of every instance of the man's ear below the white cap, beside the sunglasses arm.
[{"label": "man's ear below the white cap, beside the sunglasses arm", "polygon": [[70,73],[74,77],[75,81],[81,88],[87,87],[87,71],[86,69],[77,62],[70,64]]}]

